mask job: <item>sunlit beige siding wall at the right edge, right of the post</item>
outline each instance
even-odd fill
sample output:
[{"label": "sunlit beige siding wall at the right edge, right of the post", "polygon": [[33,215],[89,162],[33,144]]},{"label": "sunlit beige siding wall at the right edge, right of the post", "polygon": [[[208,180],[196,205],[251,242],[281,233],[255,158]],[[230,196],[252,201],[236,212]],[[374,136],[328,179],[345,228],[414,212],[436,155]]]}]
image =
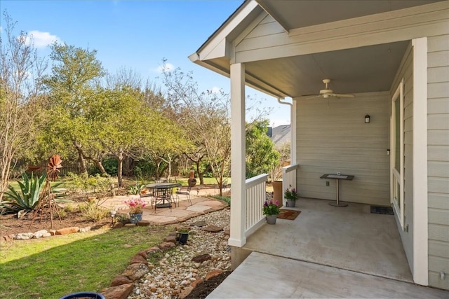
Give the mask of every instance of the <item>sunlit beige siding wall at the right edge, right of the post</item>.
[{"label": "sunlit beige siding wall at the right edge, right of the post", "polygon": [[429,285],[449,289],[449,35],[427,45]]}]

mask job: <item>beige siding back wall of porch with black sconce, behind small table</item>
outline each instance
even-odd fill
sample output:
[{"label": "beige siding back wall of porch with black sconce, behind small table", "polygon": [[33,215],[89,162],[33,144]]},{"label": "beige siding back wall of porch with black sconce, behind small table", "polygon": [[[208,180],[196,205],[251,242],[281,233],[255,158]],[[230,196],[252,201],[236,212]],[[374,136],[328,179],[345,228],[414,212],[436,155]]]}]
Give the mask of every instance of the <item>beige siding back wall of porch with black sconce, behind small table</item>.
[{"label": "beige siding back wall of porch with black sconce, behind small table", "polygon": [[354,99],[295,99],[300,196],[335,200],[335,181],[320,176],[341,172],[355,178],[340,180],[340,200],[389,205],[389,98],[389,92],[370,92]]}]

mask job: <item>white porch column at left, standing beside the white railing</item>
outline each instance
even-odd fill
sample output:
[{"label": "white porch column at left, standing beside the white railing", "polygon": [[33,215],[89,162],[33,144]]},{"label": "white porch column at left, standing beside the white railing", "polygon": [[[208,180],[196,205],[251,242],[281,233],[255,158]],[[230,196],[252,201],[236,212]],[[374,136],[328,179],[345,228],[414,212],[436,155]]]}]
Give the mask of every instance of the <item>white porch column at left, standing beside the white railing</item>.
[{"label": "white porch column at left, standing beside the white railing", "polygon": [[246,243],[245,66],[231,64],[231,233],[228,244]]}]

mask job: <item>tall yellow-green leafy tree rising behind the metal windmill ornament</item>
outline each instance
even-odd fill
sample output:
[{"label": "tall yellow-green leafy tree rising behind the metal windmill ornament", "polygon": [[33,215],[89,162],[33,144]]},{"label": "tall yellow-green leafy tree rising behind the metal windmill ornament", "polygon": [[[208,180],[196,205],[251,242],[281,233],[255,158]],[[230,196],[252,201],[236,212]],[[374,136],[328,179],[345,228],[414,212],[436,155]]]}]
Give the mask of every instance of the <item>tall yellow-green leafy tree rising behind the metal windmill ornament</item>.
[{"label": "tall yellow-green leafy tree rising behind the metal windmill ornament", "polygon": [[58,43],[54,43],[51,50],[52,73],[43,78],[51,101],[41,137],[42,146],[56,146],[60,153],[67,153],[67,144],[72,144],[81,172],[87,173],[85,158],[98,158],[102,153],[100,143],[91,142],[91,137],[95,136],[92,130],[100,127],[102,122],[92,115],[91,112],[96,110],[91,109],[91,105],[98,100],[97,88],[105,72],[95,57],[95,50]]}]

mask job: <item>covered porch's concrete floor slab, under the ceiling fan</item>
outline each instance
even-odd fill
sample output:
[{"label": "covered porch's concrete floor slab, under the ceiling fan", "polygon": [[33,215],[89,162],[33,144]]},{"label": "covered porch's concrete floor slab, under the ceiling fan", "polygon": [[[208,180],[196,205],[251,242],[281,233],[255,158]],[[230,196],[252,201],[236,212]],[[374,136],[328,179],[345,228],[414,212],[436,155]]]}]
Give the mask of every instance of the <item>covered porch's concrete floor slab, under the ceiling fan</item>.
[{"label": "covered porch's concrete floor slab, under the ceiling fan", "polygon": [[370,213],[370,204],[333,207],[301,198],[295,220],[263,225],[243,249],[413,282],[393,215]]}]

